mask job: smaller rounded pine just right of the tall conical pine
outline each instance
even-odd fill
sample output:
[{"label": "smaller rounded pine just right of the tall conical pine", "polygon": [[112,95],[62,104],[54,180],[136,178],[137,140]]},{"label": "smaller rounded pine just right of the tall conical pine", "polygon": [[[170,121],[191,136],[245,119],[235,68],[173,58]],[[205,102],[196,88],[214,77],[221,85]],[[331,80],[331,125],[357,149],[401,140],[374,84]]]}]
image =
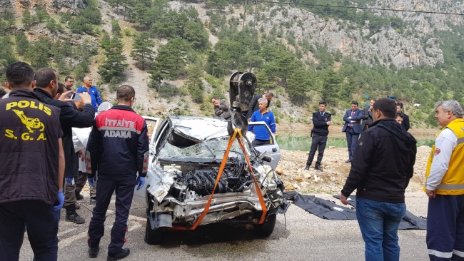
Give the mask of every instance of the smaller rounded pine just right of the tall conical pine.
[{"label": "smaller rounded pine just right of the tall conical pine", "polygon": [[155,55],[154,46],[155,42],[150,39],[147,32],[134,36],[131,57],[140,62],[142,70],[145,70],[147,63],[153,61]]}]

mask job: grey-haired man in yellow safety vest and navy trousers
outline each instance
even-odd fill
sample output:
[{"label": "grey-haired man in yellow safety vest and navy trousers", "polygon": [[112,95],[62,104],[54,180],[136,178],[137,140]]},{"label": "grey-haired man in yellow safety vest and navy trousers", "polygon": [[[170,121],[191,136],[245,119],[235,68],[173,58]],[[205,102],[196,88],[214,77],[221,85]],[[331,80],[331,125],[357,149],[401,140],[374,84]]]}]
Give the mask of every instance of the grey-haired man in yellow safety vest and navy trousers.
[{"label": "grey-haired man in yellow safety vest and navy trousers", "polygon": [[457,101],[435,104],[437,134],[428,158],[427,248],[430,260],[464,260],[464,120]]}]

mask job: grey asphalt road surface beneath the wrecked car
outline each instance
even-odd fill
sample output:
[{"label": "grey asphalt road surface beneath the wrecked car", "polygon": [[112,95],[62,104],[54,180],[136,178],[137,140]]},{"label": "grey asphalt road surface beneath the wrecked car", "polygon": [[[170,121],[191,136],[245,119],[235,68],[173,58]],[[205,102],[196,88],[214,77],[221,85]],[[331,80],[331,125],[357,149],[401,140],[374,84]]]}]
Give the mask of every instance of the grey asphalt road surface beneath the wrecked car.
[{"label": "grey asphalt road surface beneath the wrecked car", "polygon": [[[331,195],[316,195],[333,200]],[[79,215],[86,219],[82,225],[64,221],[61,210],[59,225],[59,260],[88,260],[87,230],[91,217],[89,197],[81,200]],[[425,193],[406,193],[408,210],[418,216],[427,215]],[[114,201],[106,219],[105,235],[101,240],[99,257],[106,260],[111,225],[114,222]],[[169,231],[162,245],[147,245],[145,207],[133,203],[126,233],[126,245],[131,255],[124,260],[363,260],[364,242],[358,222],[323,220],[291,205],[278,215],[276,228],[268,238],[260,238],[242,225],[213,224],[193,231]],[[425,230],[400,230],[400,260],[428,260]],[[32,260],[33,253],[27,235],[20,260]]]}]

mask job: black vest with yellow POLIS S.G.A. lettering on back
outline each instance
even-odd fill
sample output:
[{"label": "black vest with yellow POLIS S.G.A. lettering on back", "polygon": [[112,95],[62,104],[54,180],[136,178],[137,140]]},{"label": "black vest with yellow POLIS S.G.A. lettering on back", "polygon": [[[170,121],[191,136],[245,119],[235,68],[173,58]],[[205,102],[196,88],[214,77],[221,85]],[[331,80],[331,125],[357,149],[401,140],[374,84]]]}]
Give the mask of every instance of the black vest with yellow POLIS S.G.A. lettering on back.
[{"label": "black vest with yellow POLIS S.G.A. lettering on back", "polygon": [[58,192],[60,109],[33,91],[11,91],[0,101],[0,203],[39,200]]}]

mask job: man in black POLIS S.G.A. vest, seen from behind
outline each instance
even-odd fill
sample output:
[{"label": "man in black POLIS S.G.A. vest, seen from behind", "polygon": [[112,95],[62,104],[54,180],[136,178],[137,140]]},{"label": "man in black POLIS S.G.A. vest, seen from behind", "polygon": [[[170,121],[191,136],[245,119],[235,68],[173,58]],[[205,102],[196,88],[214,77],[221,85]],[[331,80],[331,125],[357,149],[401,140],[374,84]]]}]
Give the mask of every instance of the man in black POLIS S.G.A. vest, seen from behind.
[{"label": "man in black POLIS S.G.A. vest, seen from behind", "polygon": [[[0,101],[0,260],[19,260],[24,226],[35,260],[57,260],[64,202],[60,109],[34,93],[34,71],[24,62],[6,68],[8,99]],[[52,94],[58,89],[56,74]]]}]

